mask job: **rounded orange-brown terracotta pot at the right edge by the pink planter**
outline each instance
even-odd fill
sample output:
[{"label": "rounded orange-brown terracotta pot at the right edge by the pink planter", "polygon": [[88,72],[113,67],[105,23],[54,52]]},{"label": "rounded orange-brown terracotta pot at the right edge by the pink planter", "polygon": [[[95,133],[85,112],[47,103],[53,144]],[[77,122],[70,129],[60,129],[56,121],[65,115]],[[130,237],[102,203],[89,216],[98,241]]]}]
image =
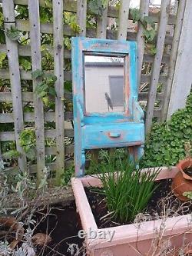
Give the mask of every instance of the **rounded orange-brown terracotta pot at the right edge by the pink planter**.
[{"label": "rounded orange-brown terracotta pot at the right edge by the pink planter", "polygon": [[190,168],[192,166],[192,158],[187,158],[180,161],[177,165],[179,172],[173,178],[172,182],[172,191],[175,196],[179,198],[181,201],[189,201],[187,197],[184,197],[184,192],[192,191],[192,177],[185,173],[186,168]]}]

